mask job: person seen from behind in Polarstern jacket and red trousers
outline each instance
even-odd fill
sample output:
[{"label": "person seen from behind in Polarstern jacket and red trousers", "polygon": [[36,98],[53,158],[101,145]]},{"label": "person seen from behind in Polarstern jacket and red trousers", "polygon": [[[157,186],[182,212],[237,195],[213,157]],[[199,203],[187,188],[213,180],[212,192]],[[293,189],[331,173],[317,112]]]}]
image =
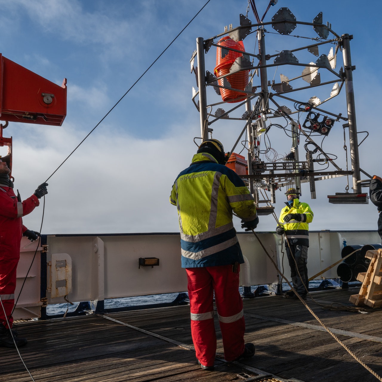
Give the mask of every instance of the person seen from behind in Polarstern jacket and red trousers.
[{"label": "person seen from behind in Polarstern jacket and red trousers", "polygon": [[225,166],[222,144],[202,142],[191,165],[176,178],[170,203],[177,207],[182,267],[186,268],[191,310],[191,335],[202,369],[214,369],[216,334],[214,297],[222,332],[224,358],[252,357],[255,346],[244,344],[243,301],[239,293],[244,262],[233,212],[242,228],[259,222],[254,199],[240,177]]}]

